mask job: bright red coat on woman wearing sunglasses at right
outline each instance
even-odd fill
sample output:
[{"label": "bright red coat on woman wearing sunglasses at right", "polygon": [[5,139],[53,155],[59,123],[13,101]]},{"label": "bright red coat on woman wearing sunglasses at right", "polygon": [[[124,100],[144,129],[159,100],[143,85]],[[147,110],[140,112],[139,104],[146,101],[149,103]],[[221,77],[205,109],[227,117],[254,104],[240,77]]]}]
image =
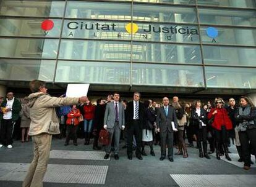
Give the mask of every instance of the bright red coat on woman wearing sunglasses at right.
[{"label": "bright red coat on woman wearing sunglasses at right", "polygon": [[[213,115],[213,111],[217,110],[217,113]],[[225,108],[211,108],[211,111],[208,113],[208,119],[215,117],[212,127],[217,130],[221,130],[221,125],[225,125],[227,130],[232,129],[232,122],[228,117],[228,112]]]}]

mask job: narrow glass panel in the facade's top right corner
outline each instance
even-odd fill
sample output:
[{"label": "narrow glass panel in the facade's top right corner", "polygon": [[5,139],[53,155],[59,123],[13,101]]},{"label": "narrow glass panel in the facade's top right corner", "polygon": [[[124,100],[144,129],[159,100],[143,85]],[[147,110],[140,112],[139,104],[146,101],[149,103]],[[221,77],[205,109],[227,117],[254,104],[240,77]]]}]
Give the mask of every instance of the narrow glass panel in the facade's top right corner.
[{"label": "narrow glass panel in the facade's top right corner", "polygon": [[255,0],[197,0],[198,5],[255,8]]}]

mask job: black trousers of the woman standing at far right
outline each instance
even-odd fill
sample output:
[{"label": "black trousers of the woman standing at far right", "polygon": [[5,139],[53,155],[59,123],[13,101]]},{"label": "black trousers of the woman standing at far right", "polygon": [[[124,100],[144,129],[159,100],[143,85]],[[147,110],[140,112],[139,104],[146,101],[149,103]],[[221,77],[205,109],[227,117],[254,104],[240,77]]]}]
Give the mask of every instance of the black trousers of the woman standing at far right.
[{"label": "black trousers of the woman standing at far right", "polygon": [[244,165],[250,167],[250,146],[252,146],[252,154],[256,155],[256,129],[240,131],[239,139],[242,148],[242,158],[244,159]]}]

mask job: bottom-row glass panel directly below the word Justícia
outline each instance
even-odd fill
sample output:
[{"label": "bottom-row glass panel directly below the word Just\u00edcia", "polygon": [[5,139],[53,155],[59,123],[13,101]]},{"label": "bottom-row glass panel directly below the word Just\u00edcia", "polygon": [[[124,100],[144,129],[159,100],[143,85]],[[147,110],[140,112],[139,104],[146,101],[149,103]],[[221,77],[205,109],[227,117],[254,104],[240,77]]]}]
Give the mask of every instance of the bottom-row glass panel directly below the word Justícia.
[{"label": "bottom-row glass panel directly below the word Just\u00edcia", "polygon": [[203,87],[202,66],[132,63],[132,84]]}]

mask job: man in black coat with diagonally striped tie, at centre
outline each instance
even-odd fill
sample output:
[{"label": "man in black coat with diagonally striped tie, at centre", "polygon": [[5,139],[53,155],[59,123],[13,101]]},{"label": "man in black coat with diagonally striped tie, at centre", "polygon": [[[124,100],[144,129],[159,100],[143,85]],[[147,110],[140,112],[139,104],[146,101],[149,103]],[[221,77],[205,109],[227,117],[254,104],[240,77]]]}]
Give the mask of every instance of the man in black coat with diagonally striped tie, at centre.
[{"label": "man in black coat with diagonally striped tie, at centre", "polygon": [[126,107],[126,127],[127,127],[127,156],[132,159],[132,140],[135,136],[137,143],[136,157],[142,160],[141,155],[141,141],[142,141],[142,127],[144,120],[144,106],[139,101],[140,93],[134,92],[134,100],[130,101]]}]

